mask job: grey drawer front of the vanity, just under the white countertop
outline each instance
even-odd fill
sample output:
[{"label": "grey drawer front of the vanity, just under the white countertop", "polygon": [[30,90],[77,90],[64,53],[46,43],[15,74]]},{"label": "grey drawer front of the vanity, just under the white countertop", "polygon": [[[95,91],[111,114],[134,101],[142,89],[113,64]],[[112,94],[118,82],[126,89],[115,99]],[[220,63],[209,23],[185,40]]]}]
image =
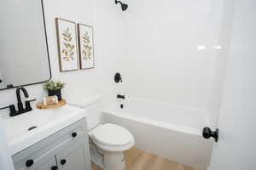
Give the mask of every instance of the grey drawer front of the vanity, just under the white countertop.
[{"label": "grey drawer front of the vanity, just under the white countertop", "polygon": [[[27,161],[33,161],[32,166],[36,167],[36,165],[42,163],[41,161],[49,157],[54,157],[56,150],[59,150],[62,145],[75,142],[84,135],[87,137],[85,118],[39,141],[37,144],[33,144],[26,150],[21,150],[19,153],[15,154],[13,156],[15,169],[24,169],[23,167],[26,166]],[[32,167],[30,167],[30,169],[32,169]]]}]

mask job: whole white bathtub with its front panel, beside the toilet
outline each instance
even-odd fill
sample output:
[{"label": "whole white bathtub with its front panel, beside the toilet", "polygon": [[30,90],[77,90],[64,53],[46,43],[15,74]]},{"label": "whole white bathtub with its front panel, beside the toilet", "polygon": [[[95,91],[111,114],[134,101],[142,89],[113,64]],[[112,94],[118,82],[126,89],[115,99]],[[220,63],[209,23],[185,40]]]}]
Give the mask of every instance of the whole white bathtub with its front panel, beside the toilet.
[{"label": "whole white bathtub with its front panel, beside the toilet", "polygon": [[[121,100],[120,100],[121,101]],[[103,122],[130,130],[140,150],[172,161],[207,169],[212,140],[202,138],[208,126],[207,113],[178,105],[166,105],[143,99],[125,99],[103,111]]]}]

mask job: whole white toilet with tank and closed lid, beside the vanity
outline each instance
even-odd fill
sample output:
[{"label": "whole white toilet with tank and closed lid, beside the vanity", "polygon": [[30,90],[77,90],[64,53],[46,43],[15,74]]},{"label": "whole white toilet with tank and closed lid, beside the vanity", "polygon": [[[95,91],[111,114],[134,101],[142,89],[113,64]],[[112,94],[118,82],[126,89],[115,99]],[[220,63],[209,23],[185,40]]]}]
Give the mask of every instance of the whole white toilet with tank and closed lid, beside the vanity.
[{"label": "whole white toilet with tank and closed lid, beside the vanity", "polygon": [[135,139],[125,127],[102,124],[102,96],[96,94],[91,99],[69,104],[87,110],[91,161],[104,170],[124,170],[124,151],[134,146]]}]

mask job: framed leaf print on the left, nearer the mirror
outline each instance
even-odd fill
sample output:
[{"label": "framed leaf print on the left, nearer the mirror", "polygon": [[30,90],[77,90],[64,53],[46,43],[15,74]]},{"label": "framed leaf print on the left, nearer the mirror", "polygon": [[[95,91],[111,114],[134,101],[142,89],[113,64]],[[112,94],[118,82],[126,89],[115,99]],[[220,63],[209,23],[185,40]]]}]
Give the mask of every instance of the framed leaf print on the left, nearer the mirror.
[{"label": "framed leaf print on the left, nearer the mirror", "polygon": [[76,23],[56,18],[60,71],[79,70]]}]

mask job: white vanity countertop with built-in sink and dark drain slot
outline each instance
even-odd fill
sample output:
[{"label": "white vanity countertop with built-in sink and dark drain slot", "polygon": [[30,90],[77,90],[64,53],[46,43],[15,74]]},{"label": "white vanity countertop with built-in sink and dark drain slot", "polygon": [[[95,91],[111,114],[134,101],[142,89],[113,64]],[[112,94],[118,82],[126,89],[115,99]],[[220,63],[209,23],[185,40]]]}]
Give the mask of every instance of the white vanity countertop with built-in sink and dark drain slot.
[{"label": "white vanity countertop with built-in sink and dark drain slot", "polygon": [[47,138],[86,117],[86,111],[71,105],[34,110],[19,116],[2,116],[11,155]]}]

